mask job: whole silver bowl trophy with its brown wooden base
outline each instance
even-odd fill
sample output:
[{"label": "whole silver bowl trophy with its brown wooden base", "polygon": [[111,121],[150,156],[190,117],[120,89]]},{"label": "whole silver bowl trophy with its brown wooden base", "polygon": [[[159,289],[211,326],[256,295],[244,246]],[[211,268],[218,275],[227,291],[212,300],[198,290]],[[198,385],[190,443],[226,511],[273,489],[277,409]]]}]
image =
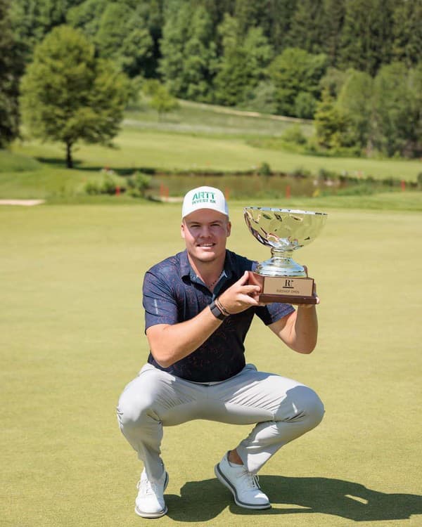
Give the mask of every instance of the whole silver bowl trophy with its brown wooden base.
[{"label": "whole silver bowl trophy with its brown wooden base", "polygon": [[293,252],[314,241],[327,214],[270,207],[245,207],[243,212],[252,235],[271,247],[271,258],[250,273],[250,282],[262,288],[260,301],[315,304],[314,280],[293,260]]}]

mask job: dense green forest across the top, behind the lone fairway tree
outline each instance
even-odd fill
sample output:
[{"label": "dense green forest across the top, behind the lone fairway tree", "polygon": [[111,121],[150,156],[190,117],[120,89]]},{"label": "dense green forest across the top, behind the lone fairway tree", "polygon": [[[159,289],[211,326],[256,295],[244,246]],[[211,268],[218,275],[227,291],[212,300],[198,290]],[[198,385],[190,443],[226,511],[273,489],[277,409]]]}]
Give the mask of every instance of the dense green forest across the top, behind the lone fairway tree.
[{"label": "dense green forest across the top, behind the lone fairway tree", "polygon": [[422,154],[422,0],[0,0],[0,15],[3,144],[34,49],[68,25],[136,86],[315,119],[328,150]]}]

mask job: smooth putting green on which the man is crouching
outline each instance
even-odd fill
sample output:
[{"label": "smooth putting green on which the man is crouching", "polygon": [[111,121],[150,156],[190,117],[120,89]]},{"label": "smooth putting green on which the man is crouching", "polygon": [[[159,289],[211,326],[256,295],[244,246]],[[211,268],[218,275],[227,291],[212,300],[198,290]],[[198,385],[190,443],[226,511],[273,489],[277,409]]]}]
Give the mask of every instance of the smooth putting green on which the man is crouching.
[{"label": "smooth putting green on which the man is crouching", "polygon": [[[230,205],[229,247],[267,258]],[[115,404],[148,352],[143,273],[183,247],[179,215],[180,204],[0,207],[2,526],[145,523]],[[324,421],[262,470],[266,512],[233,505],[213,474],[249,427],[165,429],[160,525],[421,525],[421,228],[418,212],[329,211],[297,254],[321,297],[316,351],[288,351],[259,320],[247,340],[250,362],[316,389]]]}]

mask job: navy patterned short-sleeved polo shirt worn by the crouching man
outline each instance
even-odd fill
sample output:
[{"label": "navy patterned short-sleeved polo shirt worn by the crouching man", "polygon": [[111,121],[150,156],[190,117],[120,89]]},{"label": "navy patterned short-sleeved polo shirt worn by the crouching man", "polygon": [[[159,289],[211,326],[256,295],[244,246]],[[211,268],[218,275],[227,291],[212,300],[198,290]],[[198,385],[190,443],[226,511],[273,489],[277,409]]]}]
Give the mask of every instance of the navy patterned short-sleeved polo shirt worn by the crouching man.
[{"label": "navy patterned short-sleeved polo shirt worn by the crouching man", "polygon": [[[157,263],[143,280],[145,329],[156,324],[173,325],[190,320],[256,265],[257,262],[226,250],[224,273],[212,293],[194,273],[186,250]],[[253,315],[256,313],[265,325],[269,325],[292,311],[294,308],[290,304],[250,307],[227,317],[196,351],[170,367],[161,367],[151,353],[148,363],[193,382],[229,379],[245,366],[243,343]]]}]

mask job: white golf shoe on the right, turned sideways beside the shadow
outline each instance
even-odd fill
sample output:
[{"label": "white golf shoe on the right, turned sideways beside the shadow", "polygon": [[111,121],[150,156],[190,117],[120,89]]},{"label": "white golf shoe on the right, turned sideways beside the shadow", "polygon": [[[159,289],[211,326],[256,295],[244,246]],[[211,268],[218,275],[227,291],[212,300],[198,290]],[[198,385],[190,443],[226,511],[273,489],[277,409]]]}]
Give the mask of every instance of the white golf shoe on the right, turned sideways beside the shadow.
[{"label": "white golf shoe on the right, turned sideways beside the shadow", "polygon": [[234,501],[245,509],[269,509],[271,503],[258,483],[258,476],[248,472],[243,464],[229,462],[229,453],[215,465],[215,475],[234,495]]}]

